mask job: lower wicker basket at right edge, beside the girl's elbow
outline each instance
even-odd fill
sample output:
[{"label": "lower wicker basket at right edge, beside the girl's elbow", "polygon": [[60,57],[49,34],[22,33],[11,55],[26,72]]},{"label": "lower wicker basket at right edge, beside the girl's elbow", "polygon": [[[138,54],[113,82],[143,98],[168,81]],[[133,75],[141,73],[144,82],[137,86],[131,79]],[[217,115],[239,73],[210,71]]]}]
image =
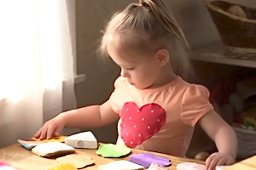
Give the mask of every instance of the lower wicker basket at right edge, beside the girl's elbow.
[{"label": "lower wicker basket at right edge, beside the girl's elbow", "polygon": [[237,158],[245,159],[256,155],[256,131],[249,131],[239,127],[233,127],[233,129],[238,141]]}]

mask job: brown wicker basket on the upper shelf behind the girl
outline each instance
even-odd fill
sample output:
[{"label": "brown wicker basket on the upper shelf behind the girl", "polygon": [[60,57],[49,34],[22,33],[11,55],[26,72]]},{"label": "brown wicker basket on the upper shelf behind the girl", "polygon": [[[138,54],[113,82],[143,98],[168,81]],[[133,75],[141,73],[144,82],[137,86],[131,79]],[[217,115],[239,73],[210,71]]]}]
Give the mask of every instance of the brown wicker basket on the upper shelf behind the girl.
[{"label": "brown wicker basket on the upper shelf behind the girl", "polygon": [[256,8],[219,0],[206,2],[227,51],[256,58]]}]

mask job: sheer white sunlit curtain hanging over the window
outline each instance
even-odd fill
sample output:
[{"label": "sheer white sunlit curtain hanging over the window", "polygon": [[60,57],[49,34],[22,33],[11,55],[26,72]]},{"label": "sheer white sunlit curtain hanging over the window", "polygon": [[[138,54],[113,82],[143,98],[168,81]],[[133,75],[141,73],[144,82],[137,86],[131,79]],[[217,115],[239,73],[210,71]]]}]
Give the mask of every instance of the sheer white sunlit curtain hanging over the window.
[{"label": "sheer white sunlit curtain hanging over the window", "polygon": [[74,11],[74,0],[0,0],[0,148],[76,107]]}]

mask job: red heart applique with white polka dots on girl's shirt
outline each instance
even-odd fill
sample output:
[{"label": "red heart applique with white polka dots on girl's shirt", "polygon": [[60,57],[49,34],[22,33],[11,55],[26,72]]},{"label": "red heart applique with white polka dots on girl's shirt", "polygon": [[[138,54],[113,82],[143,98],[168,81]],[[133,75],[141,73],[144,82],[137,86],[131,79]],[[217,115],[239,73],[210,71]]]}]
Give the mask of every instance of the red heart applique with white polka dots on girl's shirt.
[{"label": "red heart applique with white polka dots on girl's shirt", "polygon": [[127,102],[121,113],[121,138],[126,146],[135,148],[157,133],[166,122],[166,111],[157,104],[143,105]]}]

